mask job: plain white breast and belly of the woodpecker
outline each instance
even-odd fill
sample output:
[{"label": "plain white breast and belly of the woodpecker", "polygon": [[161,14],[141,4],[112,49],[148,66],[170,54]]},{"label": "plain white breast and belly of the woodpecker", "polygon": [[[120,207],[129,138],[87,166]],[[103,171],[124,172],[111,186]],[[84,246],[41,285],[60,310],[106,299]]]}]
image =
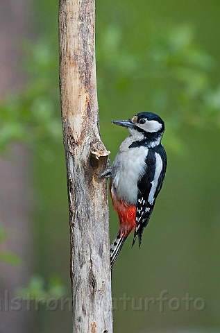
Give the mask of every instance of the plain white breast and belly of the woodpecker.
[{"label": "plain white breast and belly of the woodpecker", "polygon": [[135,205],[137,200],[137,181],[146,169],[145,159],[148,148],[144,146],[128,148],[133,139],[127,137],[122,142],[112,164],[112,194],[127,203]]}]

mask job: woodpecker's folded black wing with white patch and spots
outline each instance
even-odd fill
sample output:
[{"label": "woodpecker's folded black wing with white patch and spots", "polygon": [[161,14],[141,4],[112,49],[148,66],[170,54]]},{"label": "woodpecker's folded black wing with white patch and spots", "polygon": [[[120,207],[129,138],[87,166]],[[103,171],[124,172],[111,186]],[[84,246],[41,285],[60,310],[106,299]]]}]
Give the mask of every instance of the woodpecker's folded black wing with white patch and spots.
[{"label": "woodpecker's folded black wing with white patch and spots", "polygon": [[137,183],[137,187],[139,189],[136,204],[137,227],[135,228],[133,244],[135,244],[135,240],[138,236],[139,246],[142,243],[144,228],[149,223],[149,219],[153,212],[155,199],[157,198],[164,182],[164,176],[167,168],[167,155],[161,144],[159,146],[149,148],[145,163],[146,172]]}]

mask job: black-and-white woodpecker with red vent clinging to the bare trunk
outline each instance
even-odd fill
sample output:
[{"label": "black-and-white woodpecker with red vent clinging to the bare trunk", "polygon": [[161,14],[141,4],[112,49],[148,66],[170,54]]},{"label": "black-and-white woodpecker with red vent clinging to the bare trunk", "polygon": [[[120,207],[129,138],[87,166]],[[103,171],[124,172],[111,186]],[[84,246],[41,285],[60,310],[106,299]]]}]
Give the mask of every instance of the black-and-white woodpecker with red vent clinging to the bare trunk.
[{"label": "black-and-white woodpecker with red vent clinging to the bare trunk", "polygon": [[112,123],[128,128],[129,136],[122,142],[110,169],[112,205],[120,223],[110,246],[111,268],[132,230],[133,244],[138,236],[141,245],[167,167],[167,155],[160,143],[164,121],[157,114],[140,112],[127,121]]}]

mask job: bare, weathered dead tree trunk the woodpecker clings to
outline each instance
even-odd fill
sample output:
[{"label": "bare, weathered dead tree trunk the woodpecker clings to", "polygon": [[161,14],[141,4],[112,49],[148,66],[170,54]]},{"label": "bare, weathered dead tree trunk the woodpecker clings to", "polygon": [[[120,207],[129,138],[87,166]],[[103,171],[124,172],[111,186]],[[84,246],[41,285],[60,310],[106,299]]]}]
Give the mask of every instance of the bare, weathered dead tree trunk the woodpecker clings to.
[{"label": "bare, weathered dead tree trunk the woodpecker clings to", "polygon": [[112,333],[106,180],[99,134],[94,0],[60,0],[60,103],[67,163],[73,332]]}]

